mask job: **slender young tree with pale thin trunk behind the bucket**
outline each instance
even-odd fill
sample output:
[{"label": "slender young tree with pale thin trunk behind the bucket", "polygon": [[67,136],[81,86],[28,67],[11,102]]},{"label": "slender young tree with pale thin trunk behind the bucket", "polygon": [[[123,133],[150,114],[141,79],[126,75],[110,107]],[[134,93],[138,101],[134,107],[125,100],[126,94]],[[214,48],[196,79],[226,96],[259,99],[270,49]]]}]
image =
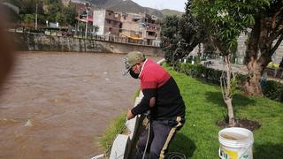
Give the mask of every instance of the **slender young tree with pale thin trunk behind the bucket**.
[{"label": "slender young tree with pale thin trunk behind the bucket", "polygon": [[253,25],[251,14],[241,14],[242,8],[250,7],[245,1],[193,1],[196,16],[203,19],[203,24],[209,27],[209,34],[216,47],[224,57],[225,70],[220,78],[224,102],[227,106],[229,126],[234,126],[233,115],[233,76],[231,57],[237,49],[237,39],[245,26]]}]

